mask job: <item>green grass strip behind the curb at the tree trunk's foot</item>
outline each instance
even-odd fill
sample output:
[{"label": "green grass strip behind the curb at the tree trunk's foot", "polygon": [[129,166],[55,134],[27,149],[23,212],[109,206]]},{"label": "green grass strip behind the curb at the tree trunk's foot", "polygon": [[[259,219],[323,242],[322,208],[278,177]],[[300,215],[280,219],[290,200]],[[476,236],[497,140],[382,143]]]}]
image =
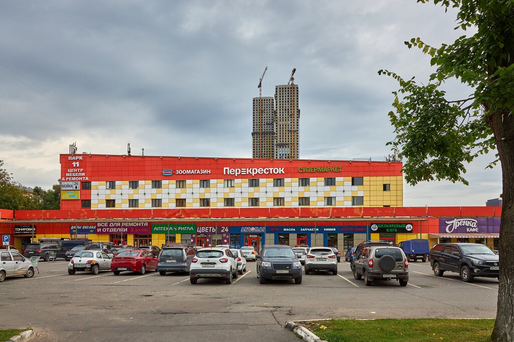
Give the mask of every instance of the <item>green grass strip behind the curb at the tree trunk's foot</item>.
[{"label": "green grass strip behind the curb at the tree trunk's foot", "polygon": [[299,324],[329,342],[486,342],[494,319],[331,319]]}]

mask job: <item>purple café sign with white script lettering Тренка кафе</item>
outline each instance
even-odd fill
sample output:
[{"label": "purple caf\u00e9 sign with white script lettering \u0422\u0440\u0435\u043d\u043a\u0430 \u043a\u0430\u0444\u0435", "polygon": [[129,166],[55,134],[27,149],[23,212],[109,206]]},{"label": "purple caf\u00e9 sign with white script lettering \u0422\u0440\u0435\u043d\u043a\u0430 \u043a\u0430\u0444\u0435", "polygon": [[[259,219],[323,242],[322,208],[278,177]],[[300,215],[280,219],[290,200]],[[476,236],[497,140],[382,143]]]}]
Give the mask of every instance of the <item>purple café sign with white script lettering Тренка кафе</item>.
[{"label": "purple caf\u00e9 sign with white script lettering \u0422\u0440\u0435\u043d\u043a\u0430 \u043a\u0430\u0444\u0435", "polygon": [[439,233],[499,233],[500,217],[442,217]]}]

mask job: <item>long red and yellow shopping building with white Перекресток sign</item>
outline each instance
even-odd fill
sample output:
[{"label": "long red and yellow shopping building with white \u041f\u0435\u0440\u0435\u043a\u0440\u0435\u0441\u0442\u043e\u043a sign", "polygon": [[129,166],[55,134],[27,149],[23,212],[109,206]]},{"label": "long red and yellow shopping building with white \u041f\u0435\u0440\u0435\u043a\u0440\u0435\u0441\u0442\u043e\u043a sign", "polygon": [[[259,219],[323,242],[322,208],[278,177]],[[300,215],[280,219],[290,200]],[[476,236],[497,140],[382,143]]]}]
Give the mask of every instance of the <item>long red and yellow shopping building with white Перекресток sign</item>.
[{"label": "long red and yellow shopping building with white \u041f\u0435\u0440\u0435\u043a\u0440\u0435\u0441\u0442\u043e\u043a sign", "polygon": [[366,239],[497,247],[500,207],[403,207],[401,162],[62,154],[61,210],[0,211],[19,249],[114,244],[333,246]]}]

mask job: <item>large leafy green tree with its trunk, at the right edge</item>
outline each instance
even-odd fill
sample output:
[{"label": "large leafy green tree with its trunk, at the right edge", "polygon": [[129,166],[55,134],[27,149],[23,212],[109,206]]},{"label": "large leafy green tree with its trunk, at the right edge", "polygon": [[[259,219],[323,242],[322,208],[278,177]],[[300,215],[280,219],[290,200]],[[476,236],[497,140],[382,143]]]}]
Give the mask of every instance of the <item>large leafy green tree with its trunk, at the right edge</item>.
[{"label": "large leafy green tree with its trunk, at the right edge", "polygon": [[[457,10],[465,34],[453,44],[434,47],[420,38],[405,42],[431,56],[436,67],[427,85],[403,79],[393,92],[389,113],[396,136],[388,144],[406,157],[410,184],[448,179],[468,184],[465,164],[497,151],[502,168],[503,208],[500,227],[500,285],[493,341],[514,340],[514,0],[432,0]],[[420,3],[429,0],[417,0]],[[470,89],[463,99],[447,96],[441,86],[455,78]]]}]

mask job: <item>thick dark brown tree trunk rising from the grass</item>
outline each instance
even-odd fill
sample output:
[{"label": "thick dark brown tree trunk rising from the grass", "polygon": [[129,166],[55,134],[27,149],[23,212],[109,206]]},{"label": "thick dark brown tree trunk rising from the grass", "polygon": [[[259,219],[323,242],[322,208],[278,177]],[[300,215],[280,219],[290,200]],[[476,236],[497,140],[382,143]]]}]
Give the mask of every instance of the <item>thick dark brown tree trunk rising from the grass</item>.
[{"label": "thick dark brown tree trunk rising from the grass", "polygon": [[500,286],[494,342],[514,341],[514,115],[501,110],[489,116],[502,167],[503,206],[500,224]]}]

